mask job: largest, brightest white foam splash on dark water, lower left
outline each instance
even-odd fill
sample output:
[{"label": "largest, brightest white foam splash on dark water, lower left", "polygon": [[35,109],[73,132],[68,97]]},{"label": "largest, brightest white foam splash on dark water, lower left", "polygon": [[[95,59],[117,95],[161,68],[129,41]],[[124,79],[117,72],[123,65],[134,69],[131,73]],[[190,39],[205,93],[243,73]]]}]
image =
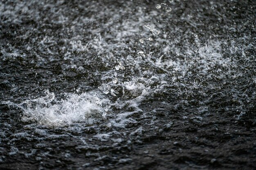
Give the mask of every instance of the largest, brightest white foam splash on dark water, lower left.
[{"label": "largest, brightest white foam splash on dark water, lower left", "polygon": [[104,103],[108,99],[99,98],[96,93],[81,95],[68,94],[67,99],[52,104],[54,93],[46,91],[45,97],[27,100],[20,104],[23,110],[22,121],[36,121],[50,126],[70,125],[74,122],[94,124],[104,119]]}]

